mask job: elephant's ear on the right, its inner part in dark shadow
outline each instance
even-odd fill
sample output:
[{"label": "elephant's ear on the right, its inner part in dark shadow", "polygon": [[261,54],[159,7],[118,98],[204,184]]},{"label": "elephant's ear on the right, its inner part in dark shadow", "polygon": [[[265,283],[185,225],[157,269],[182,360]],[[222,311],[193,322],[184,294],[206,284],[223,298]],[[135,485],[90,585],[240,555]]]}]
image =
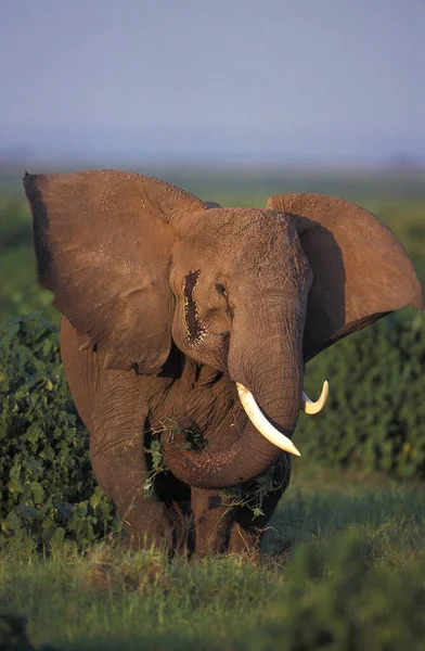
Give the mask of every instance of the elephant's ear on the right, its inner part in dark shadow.
[{"label": "elephant's ear on the right, its inner part in dark shadow", "polygon": [[323,194],[276,194],[268,207],[294,218],[313,272],[306,360],[388,312],[424,308],[422,288],[404,248],[368,210]]}]

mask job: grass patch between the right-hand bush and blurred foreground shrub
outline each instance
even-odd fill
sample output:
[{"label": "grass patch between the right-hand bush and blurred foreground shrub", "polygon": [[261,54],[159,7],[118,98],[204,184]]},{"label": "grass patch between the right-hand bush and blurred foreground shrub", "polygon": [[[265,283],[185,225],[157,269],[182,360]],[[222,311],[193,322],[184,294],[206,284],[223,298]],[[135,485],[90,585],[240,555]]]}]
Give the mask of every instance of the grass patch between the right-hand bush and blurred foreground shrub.
[{"label": "grass patch between the right-hand bush and blurred foreground shrub", "polygon": [[[301,461],[296,461],[297,467]],[[425,490],[382,475],[299,469],[272,521],[266,550],[282,554],[301,544],[327,545],[355,533],[373,562],[395,570],[425,560]]]}]

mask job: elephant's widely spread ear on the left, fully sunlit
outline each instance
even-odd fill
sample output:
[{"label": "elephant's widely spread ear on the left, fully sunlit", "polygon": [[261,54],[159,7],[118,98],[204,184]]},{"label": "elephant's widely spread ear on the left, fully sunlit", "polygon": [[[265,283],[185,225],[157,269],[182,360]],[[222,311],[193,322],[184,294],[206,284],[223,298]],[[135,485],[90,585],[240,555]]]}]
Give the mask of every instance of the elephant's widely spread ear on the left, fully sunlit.
[{"label": "elephant's widely spread ear on the left, fully sunlit", "polygon": [[170,349],[172,221],[203,210],[164,181],[112,170],[26,175],[38,275],[105,368],[152,373]]}]

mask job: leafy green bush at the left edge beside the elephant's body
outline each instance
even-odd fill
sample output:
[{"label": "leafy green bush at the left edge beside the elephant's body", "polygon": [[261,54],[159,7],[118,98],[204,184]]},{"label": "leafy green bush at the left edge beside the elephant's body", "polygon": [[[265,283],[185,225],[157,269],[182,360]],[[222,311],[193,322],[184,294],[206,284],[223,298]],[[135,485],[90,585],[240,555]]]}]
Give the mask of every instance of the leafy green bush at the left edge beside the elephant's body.
[{"label": "leafy green bush at the left edge beside the elephant's body", "polygon": [[39,317],[0,328],[0,545],[30,535],[85,548],[116,528],[70,399],[57,331]]}]

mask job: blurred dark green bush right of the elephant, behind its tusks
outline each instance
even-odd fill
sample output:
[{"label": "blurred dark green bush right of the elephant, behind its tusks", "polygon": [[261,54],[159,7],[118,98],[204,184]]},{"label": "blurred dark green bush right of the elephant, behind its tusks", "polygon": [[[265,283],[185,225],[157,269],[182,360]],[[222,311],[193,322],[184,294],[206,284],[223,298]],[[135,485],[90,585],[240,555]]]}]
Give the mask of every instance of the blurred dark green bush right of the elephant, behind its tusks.
[{"label": "blurred dark green bush right of the elephant, behind its tusks", "polygon": [[386,318],[339,342],[311,363],[307,393],[324,379],[324,412],[301,416],[295,434],[305,458],[399,477],[425,476],[425,318]]}]

